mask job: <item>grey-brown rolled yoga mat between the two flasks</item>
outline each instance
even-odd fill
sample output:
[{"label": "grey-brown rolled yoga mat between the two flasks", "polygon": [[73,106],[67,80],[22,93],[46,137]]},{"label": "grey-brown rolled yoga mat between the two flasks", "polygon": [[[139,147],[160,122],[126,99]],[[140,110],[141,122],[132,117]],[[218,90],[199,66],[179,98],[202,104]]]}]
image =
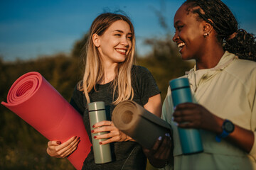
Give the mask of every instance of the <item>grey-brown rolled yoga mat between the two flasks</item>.
[{"label": "grey-brown rolled yoga mat between the two flasks", "polygon": [[147,149],[154,146],[159,136],[171,132],[169,123],[146,111],[134,101],[120,102],[112,112],[112,122]]}]

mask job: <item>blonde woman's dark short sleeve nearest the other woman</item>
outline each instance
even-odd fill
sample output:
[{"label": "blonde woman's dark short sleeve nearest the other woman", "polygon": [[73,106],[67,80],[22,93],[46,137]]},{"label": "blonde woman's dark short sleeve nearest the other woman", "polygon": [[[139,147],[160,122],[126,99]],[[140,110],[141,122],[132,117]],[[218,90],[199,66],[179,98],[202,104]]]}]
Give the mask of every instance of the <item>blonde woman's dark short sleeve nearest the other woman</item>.
[{"label": "blonde woman's dark short sleeve nearest the other woman", "polygon": [[161,93],[151,72],[145,67],[134,66],[132,68],[132,77],[134,93],[139,95],[143,106],[151,96]]}]

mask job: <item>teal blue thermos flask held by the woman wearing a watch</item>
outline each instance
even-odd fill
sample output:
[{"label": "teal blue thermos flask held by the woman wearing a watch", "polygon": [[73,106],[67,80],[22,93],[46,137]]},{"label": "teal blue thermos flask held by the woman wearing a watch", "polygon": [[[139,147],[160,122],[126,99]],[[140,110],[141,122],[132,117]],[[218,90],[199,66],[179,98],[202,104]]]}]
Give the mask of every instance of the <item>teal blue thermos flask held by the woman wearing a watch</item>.
[{"label": "teal blue thermos flask held by the woman wearing a watch", "polygon": [[[187,78],[174,79],[169,82],[171,96],[176,107],[180,103],[193,102],[191,89]],[[203,152],[203,145],[199,130],[192,128],[178,128],[183,154]]]}]

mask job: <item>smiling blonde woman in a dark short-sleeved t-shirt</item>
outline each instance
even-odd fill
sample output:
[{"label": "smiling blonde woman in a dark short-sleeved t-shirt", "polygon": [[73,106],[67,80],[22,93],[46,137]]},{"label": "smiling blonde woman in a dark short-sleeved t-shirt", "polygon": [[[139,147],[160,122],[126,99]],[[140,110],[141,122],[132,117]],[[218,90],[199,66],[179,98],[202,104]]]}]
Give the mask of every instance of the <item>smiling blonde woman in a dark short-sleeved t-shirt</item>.
[{"label": "smiling blonde woman in a dark short-sleeved t-shirt", "polygon": [[[102,13],[90,28],[85,45],[85,74],[78,83],[70,103],[83,116],[90,134],[87,103],[104,101],[109,120],[96,123],[94,132],[110,132],[96,136],[108,138],[101,143],[112,143],[113,162],[95,164],[93,150],[85,159],[82,169],[145,169],[146,157],[137,142],[120,132],[111,123],[111,114],[120,101],[132,99],[148,111],[161,116],[161,97],[156,81],[144,67],[134,65],[134,27],[129,18],[116,13]],[[101,128],[98,128],[101,127]],[[90,135],[89,135],[90,136]],[[90,136],[90,140],[91,136]],[[78,147],[78,137],[60,144],[49,141],[47,152],[52,157],[67,157]]]}]

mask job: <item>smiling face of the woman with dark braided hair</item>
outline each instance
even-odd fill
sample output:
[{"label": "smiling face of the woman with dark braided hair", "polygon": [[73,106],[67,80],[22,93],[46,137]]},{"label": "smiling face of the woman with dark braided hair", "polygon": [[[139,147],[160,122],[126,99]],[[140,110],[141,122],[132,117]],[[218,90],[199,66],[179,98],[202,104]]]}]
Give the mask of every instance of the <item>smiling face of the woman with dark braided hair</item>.
[{"label": "smiling face of the woman with dark braided hair", "polygon": [[176,32],[173,41],[180,48],[183,60],[198,59],[204,50],[203,21],[199,21],[197,14],[189,12],[187,8],[188,6],[183,4],[174,16]]}]

